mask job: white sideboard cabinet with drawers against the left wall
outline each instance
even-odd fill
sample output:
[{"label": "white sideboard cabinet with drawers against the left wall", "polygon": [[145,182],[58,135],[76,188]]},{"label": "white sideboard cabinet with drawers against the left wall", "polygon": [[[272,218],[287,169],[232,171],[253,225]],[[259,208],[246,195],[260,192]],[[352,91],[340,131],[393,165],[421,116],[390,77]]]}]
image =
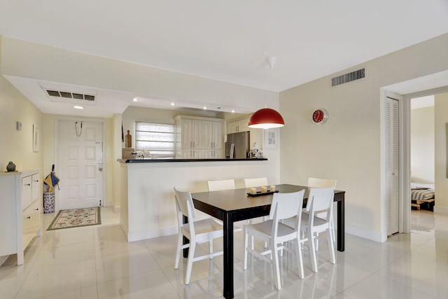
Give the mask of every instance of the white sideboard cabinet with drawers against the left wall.
[{"label": "white sideboard cabinet with drawers against the left wall", "polygon": [[41,235],[41,181],[38,170],[0,173],[0,256],[23,251]]}]

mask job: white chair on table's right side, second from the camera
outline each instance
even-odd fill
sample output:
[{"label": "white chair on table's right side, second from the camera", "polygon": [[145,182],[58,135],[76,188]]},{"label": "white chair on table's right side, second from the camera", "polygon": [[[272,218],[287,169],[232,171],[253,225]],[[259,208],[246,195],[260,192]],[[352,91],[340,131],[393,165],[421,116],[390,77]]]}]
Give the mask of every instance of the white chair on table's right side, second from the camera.
[{"label": "white chair on table's right side, second from the camera", "polygon": [[[311,188],[308,196],[309,213],[302,213],[301,230],[304,232],[304,235],[307,235],[311,267],[314,272],[318,271],[316,251],[318,250],[317,244],[321,232],[327,232],[330,263],[336,263],[335,244],[333,242],[334,235],[332,234],[331,225],[334,195],[335,187]],[[323,212],[325,212],[325,218],[317,216],[317,214],[322,214]]]}]

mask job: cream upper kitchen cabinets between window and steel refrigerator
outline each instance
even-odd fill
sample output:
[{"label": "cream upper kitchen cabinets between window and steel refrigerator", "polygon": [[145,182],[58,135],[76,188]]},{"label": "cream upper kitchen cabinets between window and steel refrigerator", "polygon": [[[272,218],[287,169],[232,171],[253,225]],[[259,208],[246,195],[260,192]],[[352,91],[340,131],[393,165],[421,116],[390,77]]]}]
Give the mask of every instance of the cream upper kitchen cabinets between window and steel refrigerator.
[{"label": "cream upper kitchen cabinets between window and steel refrigerator", "polygon": [[223,158],[223,124],[219,118],[176,116],[176,158]]}]

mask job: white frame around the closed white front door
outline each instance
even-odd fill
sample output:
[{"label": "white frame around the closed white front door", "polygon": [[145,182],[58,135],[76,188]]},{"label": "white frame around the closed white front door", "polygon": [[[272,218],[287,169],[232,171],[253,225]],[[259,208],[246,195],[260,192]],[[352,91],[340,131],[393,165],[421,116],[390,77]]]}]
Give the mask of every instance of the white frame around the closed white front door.
[{"label": "white frame around the closed white front door", "polygon": [[[106,180],[106,172],[107,172],[107,157],[106,157],[106,144],[107,144],[107,140],[106,140],[106,120],[104,119],[100,119],[100,118],[78,118],[75,116],[57,116],[55,118],[55,173],[57,175],[57,173],[59,172],[59,165],[60,165],[60,160],[59,160],[59,129],[57,127],[57,124],[59,123],[59,120],[71,120],[71,121],[84,121],[84,122],[91,122],[91,123],[102,123],[103,125],[103,175],[102,175],[102,180],[103,180],[103,207],[107,207],[109,204],[109,200],[107,199],[107,180]],[[46,175],[46,174],[45,174]],[[55,188],[55,196],[56,196],[56,200],[55,200],[55,210],[59,211],[59,190],[57,190],[57,188]]]}]

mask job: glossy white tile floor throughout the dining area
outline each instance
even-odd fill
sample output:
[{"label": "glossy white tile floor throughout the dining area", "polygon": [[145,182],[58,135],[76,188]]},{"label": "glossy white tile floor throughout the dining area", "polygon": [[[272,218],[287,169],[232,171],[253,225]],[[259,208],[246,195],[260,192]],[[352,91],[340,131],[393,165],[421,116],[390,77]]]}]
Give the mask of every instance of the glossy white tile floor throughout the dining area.
[{"label": "glossy white tile floor throughout the dining area", "polygon": [[[43,228],[54,216],[43,215]],[[191,284],[184,286],[183,266],[174,270],[176,236],[127,243],[118,214],[103,208],[102,222],[44,230],[27,249],[25,265],[10,256],[0,267],[0,298],[222,298],[222,257],[193,264]],[[319,271],[311,271],[305,254],[304,279],[284,256],[281,291],[272,286],[269,264],[253,260],[242,270],[237,237],[235,298],[448,298],[446,215],[413,211],[412,233],[384,244],[346,234],[336,265],[321,242]]]}]

